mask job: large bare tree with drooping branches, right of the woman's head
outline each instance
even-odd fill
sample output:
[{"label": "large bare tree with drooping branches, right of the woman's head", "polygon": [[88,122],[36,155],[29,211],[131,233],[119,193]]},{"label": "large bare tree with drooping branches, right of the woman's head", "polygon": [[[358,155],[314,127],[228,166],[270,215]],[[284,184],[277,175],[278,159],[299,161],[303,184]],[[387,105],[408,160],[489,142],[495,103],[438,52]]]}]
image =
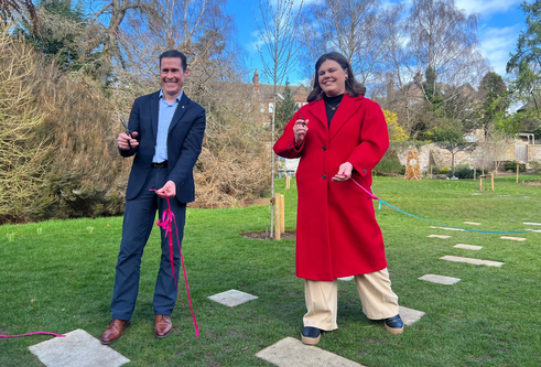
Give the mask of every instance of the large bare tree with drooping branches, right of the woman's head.
[{"label": "large bare tree with drooping branches, right of the woman's head", "polygon": [[454,0],[413,0],[386,54],[387,78],[398,83],[394,106],[387,107],[399,112],[410,133],[420,123],[431,127],[422,121],[432,119],[426,111],[444,111],[447,119],[468,126],[476,102],[470,90],[488,71],[478,48],[477,23],[478,15],[466,15]]}]

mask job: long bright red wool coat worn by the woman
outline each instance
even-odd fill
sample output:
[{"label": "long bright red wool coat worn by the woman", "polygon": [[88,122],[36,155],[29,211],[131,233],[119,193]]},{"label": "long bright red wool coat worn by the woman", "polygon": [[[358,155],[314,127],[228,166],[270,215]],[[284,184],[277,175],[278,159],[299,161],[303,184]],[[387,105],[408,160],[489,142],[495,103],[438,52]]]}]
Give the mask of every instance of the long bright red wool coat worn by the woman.
[{"label": "long bright red wool coat worn by the woman", "polygon": [[370,190],[371,170],[389,148],[383,112],[378,104],[347,94],[327,127],[323,99],[301,108],[309,121],[302,145],[295,149],[293,125],[299,111],[274,144],[283,158],[301,158],[296,171],[296,276],[332,281],[385,269],[383,238],[368,194],[351,180],[333,182],[344,162],[351,177]]}]

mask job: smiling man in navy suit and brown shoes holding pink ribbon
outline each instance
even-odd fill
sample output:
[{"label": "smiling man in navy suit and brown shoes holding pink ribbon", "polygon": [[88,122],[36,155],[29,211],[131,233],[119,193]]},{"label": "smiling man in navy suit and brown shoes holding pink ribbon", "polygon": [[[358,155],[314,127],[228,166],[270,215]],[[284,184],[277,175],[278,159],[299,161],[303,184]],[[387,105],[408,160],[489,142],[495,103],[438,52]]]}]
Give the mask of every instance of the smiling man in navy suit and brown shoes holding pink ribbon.
[{"label": "smiling man in navy suit and brown shoes holding pink ribbon", "polygon": [[188,76],[186,56],[176,50],[160,55],[162,88],[136,99],[129,119],[129,133],[117,138],[120,155],[132,156],[122,240],[118,255],[111,306],[112,320],[101,336],[102,344],[118,339],[129,325],[139,291],[139,270],[144,246],[156,211],[162,216],[170,198],[178,238],[173,228],[174,272],[169,239],[161,230],[162,256],[154,289],[154,335],[171,333],[181,266],[177,240],[182,241],[186,203],[195,199],[193,169],[201,153],[205,131],[205,110],[183,93]]}]

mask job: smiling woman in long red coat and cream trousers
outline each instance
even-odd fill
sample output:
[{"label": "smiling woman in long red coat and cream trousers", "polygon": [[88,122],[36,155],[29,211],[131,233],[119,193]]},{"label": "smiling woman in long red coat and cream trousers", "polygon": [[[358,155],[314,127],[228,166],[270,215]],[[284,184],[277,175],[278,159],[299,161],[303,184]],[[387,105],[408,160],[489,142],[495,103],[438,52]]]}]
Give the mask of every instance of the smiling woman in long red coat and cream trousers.
[{"label": "smiling woman in long red coat and cream trousers", "polygon": [[283,158],[301,158],[296,171],[296,276],[305,279],[302,342],[315,345],[337,328],[337,278],[355,276],[363,311],[403,331],[391,290],[383,238],[365,188],[389,147],[383,112],[364,97],[348,61],[336,52],[315,64],[314,89],[274,144]]}]

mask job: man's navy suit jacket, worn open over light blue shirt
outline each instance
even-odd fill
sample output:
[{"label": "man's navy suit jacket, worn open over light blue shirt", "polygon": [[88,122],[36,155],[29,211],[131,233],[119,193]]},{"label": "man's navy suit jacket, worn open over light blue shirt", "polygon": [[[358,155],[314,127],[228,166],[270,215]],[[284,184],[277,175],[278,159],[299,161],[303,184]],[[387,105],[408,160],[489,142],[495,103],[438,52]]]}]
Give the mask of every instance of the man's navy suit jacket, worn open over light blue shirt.
[{"label": "man's navy suit jacket, worn open over light blue shirt", "polygon": [[[136,155],[126,190],[128,201],[139,194],[149,174],[156,145],[159,111],[160,91],[137,98],[131,108],[128,128],[139,133],[139,145],[119,149],[122,156]],[[205,125],[205,109],[183,93],[167,132],[167,181],[176,184],[176,198],[181,203],[195,199],[193,169],[201,153]]]}]

